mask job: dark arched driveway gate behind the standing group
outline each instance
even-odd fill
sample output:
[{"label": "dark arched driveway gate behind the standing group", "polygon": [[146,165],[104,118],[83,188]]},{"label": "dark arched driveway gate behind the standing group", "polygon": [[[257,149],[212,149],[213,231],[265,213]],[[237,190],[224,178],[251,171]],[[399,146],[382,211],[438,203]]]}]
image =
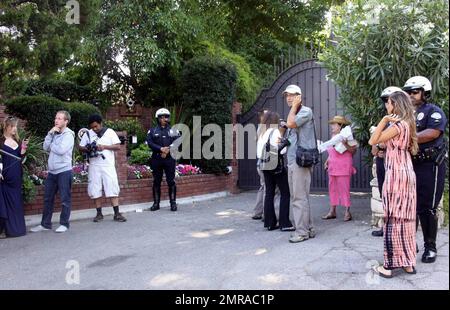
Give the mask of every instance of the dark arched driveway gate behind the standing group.
[{"label": "dark arched driveway gate behind the standing group", "polygon": [[[343,109],[337,106],[339,90],[327,79],[327,70],[315,59],[295,64],[285,70],[270,88],[264,89],[255,104],[245,114],[239,116],[239,123],[243,126],[258,123],[258,111],[268,109],[276,111],[284,119],[287,118],[289,107],[287,106],[282,92],[287,85],[296,84],[302,89],[303,104],[312,108],[316,123],[317,139],[327,141],[330,139],[328,120],[335,115],[342,115]],[[350,115],[347,115],[351,119]],[[248,143],[245,137],[245,145]],[[353,165],[357,174],[352,178],[353,191],[370,191],[371,167],[364,158],[366,152],[361,149],[353,157]],[[323,170],[323,162],[326,160],[326,152],[322,155],[322,162],[315,166],[311,189],[313,191],[326,191],[328,189],[328,176]],[[259,176],[256,171],[256,159],[239,160],[239,187],[243,190],[256,189],[259,187]]]}]

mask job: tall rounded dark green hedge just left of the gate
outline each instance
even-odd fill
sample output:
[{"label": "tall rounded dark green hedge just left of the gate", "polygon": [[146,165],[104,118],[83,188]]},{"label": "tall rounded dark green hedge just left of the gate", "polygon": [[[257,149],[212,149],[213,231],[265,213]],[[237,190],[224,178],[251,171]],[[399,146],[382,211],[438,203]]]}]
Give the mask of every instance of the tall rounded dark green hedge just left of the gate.
[{"label": "tall rounded dark green hedge just left of the gate", "polygon": [[[181,76],[185,107],[190,109],[192,115],[202,117],[202,125],[217,124],[225,133],[225,124],[232,122],[232,106],[236,99],[235,66],[220,58],[198,57],[186,63]],[[208,139],[202,137],[202,145]],[[226,159],[192,160],[204,173],[215,174],[226,172],[229,162]]]}]

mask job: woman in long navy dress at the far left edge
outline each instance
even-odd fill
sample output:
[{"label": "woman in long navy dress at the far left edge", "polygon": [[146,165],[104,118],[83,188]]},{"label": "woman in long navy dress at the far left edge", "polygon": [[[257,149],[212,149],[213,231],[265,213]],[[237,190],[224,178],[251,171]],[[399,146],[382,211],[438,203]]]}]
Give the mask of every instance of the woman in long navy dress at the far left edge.
[{"label": "woman in long navy dress at the far left edge", "polygon": [[22,199],[22,161],[28,140],[20,141],[18,119],[8,116],[0,128],[0,235],[26,234]]}]

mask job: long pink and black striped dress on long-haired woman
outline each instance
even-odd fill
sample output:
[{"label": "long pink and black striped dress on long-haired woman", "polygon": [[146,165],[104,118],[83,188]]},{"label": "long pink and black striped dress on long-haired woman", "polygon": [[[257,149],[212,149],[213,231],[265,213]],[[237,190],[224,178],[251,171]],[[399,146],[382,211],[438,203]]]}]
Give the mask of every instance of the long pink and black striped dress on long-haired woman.
[{"label": "long pink and black striped dress on long-haired woman", "polygon": [[408,151],[410,129],[393,124],[398,135],[386,143],[383,184],[384,268],[416,265],[416,175]]}]

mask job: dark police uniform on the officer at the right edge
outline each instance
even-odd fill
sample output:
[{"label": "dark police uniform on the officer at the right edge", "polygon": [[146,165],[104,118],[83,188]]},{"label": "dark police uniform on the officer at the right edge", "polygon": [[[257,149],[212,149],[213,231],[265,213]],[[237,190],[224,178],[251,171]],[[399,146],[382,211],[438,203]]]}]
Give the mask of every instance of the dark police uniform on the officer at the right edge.
[{"label": "dark police uniform on the officer at the right edge", "polygon": [[446,163],[443,160],[446,153],[444,132],[447,118],[438,106],[424,103],[416,111],[416,126],[417,132],[425,129],[441,131],[437,139],[419,144],[419,153],[413,157],[417,182],[417,218],[422,227],[425,247],[422,261],[434,262],[435,256],[430,256],[429,251],[437,252],[436,210],[444,192],[446,171]]}]

